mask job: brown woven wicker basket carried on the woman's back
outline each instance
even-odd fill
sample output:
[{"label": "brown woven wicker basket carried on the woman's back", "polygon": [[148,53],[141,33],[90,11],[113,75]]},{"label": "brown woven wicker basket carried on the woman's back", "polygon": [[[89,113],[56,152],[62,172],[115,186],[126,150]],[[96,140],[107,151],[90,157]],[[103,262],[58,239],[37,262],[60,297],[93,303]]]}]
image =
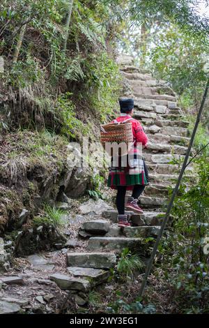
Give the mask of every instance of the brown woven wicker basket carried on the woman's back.
[{"label": "brown woven wicker basket carried on the woman's back", "polygon": [[[102,146],[105,149],[105,144],[107,142],[113,143],[116,142],[117,144],[120,144],[121,142],[125,142],[127,145],[126,151],[121,151],[121,149],[118,149],[118,156],[122,156],[127,154],[127,151],[130,150],[130,147],[132,146],[133,142],[133,133],[132,133],[132,124],[129,123],[123,123],[120,122],[120,124],[102,124],[100,126],[100,142],[102,143]],[[108,149],[105,149],[110,156],[113,156],[113,152],[111,149],[111,153],[108,151]],[[116,154],[114,154],[116,155]]]}]

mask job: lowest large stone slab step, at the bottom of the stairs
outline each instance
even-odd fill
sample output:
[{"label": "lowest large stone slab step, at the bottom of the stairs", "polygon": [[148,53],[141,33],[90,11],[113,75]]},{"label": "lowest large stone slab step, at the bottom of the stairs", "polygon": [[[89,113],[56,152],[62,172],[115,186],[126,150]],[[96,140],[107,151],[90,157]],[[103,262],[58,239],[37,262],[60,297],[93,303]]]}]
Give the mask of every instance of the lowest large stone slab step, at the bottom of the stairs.
[{"label": "lowest large stone slab step, at the bottom of the stairs", "polygon": [[82,292],[86,292],[91,287],[88,280],[82,278],[72,278],[70,276],[66,276],[65,274],[52,274],[50,279],[55,281],[55,283],[62,290],[81,290]]}]

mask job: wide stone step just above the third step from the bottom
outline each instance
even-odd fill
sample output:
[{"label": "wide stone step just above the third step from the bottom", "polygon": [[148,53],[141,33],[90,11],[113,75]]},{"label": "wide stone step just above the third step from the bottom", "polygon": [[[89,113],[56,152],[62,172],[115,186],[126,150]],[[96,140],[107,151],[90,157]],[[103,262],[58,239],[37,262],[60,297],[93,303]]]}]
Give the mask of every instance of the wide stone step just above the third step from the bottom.
[{"label": "wide stone step just above the third step from the bottom", "polygon": [[128,237],[91,237],[88,239],[87,249],[92,250],[119,250],[123,248],[140,248],[140,238],[128,238]]}]

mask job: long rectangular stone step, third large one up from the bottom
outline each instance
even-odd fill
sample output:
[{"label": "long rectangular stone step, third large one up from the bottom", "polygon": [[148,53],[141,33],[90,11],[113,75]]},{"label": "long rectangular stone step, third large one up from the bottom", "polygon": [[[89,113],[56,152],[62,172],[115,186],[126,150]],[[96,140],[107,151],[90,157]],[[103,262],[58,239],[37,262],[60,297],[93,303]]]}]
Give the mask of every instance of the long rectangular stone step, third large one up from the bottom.
[{"label": "long rectangular stone step, third large one up from the bottom", "polygon": [[109,269],[116,264],[114,253],[67,253],[68,267]]}]

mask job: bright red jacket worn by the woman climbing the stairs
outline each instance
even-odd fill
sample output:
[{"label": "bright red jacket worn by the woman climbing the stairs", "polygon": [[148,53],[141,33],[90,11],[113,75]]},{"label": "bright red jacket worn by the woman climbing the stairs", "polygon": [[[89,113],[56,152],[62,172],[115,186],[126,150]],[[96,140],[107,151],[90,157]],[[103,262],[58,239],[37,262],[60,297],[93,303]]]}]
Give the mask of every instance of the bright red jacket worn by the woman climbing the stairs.
[{"label": "bright red jacket worn by the woman climbing the stairs", "polygon": [[[127,114],[124,116],[120,116],[116,118],[116,121],[121,122],[125,121],[125,119],[132,119],[132,117]],[[141,126],[141,123],[137,119],[132,119],[130,121],[132,123],[132,132],[134,137],[134,146],[137,145],[137,142],[141,142],[143,146],[146,146],[148,143],[148,137],[146,136],[146,133],[144,132],[144,129]],[[111,121],[111,123],[114,123],[114,121]]]}]

